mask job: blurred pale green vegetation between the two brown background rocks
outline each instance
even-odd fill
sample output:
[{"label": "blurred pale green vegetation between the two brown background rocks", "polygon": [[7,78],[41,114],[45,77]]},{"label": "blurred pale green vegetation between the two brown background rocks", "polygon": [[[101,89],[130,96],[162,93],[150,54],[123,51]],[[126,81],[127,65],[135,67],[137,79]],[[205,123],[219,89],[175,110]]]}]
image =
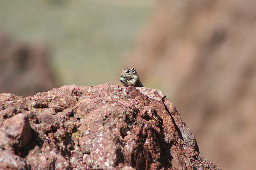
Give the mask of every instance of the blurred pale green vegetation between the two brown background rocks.
[{"label": "blurred pale green vegetation between the two brown background rocks", "polygon": [[0,0],[0,27],[21,42],[44,44],[61,85],[118,84],[155,0]]}]

